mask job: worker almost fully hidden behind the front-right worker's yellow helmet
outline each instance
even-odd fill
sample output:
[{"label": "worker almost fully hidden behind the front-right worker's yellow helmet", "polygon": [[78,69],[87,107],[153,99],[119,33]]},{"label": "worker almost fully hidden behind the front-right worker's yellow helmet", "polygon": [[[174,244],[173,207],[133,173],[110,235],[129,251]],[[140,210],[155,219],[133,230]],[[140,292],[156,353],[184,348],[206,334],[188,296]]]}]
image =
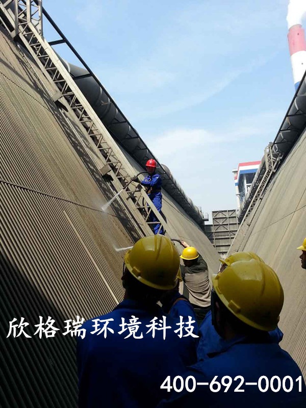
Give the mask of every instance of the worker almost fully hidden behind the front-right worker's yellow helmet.
[{"label": "worker almost fully hidden behind the front-right worker's yellow helmet", "polygon": [[[256,259],[258,261],[264,262],[256,253],[254,252],[234,252],[231,256],[227,257],[225,260],[220,259],[221,268],[219,273],[223,272],[227,266],[230,266],[234,262],[238,261],[249,261],[251,259]],[[273,343],[279,343],[283,340],[284,334],[279,327],[275,330],[268,332],[270,336],[270,341]],[[209,311],[205,316],[200,328],[199,328],[199,343],[197,347],[197,358],[198,360],[204,360],[209,358],[209,354],[212,351],[221,350],[223,348],[223,343],[225,340],[218,335],[215,327],[212,324],[212,313]]]}]

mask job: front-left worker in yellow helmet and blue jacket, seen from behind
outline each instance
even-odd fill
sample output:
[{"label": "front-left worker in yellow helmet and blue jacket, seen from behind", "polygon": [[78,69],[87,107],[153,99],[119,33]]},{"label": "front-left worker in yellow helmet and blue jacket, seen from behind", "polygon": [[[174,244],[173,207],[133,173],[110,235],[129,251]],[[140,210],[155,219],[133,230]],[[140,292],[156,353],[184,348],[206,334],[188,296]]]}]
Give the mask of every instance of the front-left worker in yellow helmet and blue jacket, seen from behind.
[{"label": "front-left worker in yellow helmet and blue jacket, seen from behind", "polygon": [[[81,408],[154,407],[167,395],[160,388],[164,377],[196,362],[196,338],[184,337],[186,330],[182,337],[174,333],[180,321],[157,304],[176,287],[179,267],[179,253],[162,235],[142,238],[126,252],[124,300],[85,322],[86,336],[78,338]],[[100,328],[105,329],[98,335]]]}]

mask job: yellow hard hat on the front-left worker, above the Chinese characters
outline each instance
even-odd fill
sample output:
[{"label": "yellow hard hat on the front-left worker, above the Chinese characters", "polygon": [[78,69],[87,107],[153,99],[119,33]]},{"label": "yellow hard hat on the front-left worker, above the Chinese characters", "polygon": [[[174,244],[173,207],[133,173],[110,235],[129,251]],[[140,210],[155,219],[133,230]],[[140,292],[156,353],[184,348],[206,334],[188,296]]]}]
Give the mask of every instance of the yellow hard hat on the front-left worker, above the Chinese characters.
[{"label": "yellow hard hat on the front-left worker, above the Chinese characters", "polygon": [[138,281],[151,288],[170,290],[177,284],[179,252],[164,235],[141,238],[125,253],[124,263]]}]

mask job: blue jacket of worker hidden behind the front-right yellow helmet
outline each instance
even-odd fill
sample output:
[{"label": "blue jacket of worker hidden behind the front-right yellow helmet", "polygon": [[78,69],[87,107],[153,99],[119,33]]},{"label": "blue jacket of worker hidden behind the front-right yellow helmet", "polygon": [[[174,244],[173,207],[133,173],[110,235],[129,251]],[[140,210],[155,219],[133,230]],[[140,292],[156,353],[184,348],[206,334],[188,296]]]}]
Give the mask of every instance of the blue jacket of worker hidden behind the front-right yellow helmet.
[{"label": "blue jacket of worker hidden behind the front-right yellow helmet", "polygon": [[[283,332],[276,327],[275,330],[268,332],[272,343],[279,343],[283,340]],[[208,354],[216,352],[223,348],[225,340],[220,337],[212,324],[212,312],[209,311],[202,321],[199,328],[199,343],[197,348],[197,359],[204,360],[208,358]]]}]

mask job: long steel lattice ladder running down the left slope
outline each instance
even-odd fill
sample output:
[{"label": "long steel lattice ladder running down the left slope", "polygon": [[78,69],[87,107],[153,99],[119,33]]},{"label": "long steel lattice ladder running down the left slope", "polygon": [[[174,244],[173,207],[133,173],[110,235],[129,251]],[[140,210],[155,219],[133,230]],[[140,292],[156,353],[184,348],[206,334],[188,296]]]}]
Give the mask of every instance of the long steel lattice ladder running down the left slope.
[{"label": "long steel lattice ladder running down the left slope", "polygon": [[[48,21],[60,34],[60,40],[47,42],[44,39],[42,34],[43,15],[47,16]],[[78,80],[82,78],[94,77],[96,79],[95,75],[42,8],[41,0],[7,0],[0,3],[0,20],[9,34],[15,40],[21,41],[23,46],[27,48],[48,82],[52,84],[53,89],[55,89],[54,101],[61,99],[64,106],[77,117],[87,136],[93,140],[106,165],[110,166],[110,174],[116,190],[119,191],[122,187],[126,188],[132,205],[144,219],[149,230],[154,224],[160,224],[158,232],[163,227],[164,232],[167,231],[168,235],[170,231],[166,221],[157,211],[144,189],[139,188],[138,184],[129,184],[134,169],[125,159],[105,125],[77,85]],[[88,74],[71,77],[52,48],[52,45],[60,43],[66,43],[70,47],[75,56],[88,69]],[[151,221],[154,216],[157,221]]]}]

